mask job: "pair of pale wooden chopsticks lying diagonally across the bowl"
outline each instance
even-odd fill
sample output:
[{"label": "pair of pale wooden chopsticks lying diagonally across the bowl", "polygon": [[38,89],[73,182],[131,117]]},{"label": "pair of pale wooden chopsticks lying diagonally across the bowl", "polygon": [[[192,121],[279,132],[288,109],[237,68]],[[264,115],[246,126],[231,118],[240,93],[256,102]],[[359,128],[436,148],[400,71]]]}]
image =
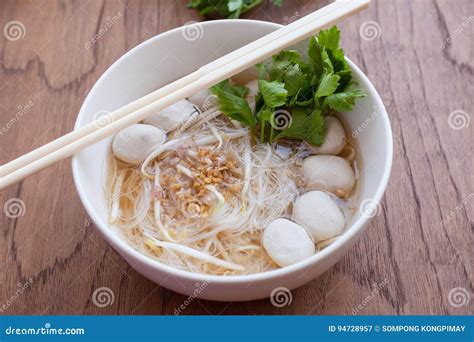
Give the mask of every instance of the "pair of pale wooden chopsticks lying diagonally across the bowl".
[{"label": "pair of pale wooden chopsticks lying diagonally across the bowl", "polygon": [[108,123],[102,127],[99,123],[92,122],[3,165],[0,167],[0,189],[116,134],[176,101],[248,69],[276,52],[308,38],[316,31],[361,11],[369,2],[370,0],[343,0],[331,3],[112,112],[101,119]]}]

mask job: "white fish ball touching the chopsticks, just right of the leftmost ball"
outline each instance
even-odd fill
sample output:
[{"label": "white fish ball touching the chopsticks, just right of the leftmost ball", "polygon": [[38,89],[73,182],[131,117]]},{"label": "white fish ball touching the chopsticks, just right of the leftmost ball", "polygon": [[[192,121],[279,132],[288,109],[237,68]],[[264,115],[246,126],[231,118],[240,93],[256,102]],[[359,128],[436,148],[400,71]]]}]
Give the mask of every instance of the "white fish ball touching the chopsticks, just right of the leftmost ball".
[{"label": "white fish ball touching the chopsticks, just right of the leftmost ball", "polygon": [[148,116],[143,122],[161,128],[165,132],[171,132],[184,124],[195,111],[196,108],[191,102],[180,100],[161,112]]}]

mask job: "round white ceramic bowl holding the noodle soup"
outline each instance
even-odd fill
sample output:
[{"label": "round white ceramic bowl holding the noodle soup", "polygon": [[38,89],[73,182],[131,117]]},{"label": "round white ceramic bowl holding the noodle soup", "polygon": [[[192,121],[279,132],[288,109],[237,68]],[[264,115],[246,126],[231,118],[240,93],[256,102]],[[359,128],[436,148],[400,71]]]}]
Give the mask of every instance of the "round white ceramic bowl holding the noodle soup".
[{"label": "round white ceramic bowl holding the noodle soup", "polygon": [[[253,20],[220,20],[177,28],[153,37],[123,55],[97,81],[87,96],[75,129],[104,111],[112,111],[200,66],[280,27]],[[304,49],[307,42],[300,44]],[[304,49],[305,50],[305,49]],[[348,60],[353,76],[368,96],[355,110],[342,114],[348,134],[357,135],[362,151],[360,196],[378,205],[392,165],[392,132],[384,105],[372,83]],[[244,301],[269,297],[277,287],[294,289],[317,277],[355,244],[370,216],[359,212],[344,234],[313,257],[289,267],[245,276],[205,276],[177,270],[140,254],[107,223],[105,163],[111,139],[91,146],[72,160],[79,196],[97,229],[113,248],[148,279],[185,295],[218,301]],[[367,206],[365,206],[367,207]],[[199,290],[196,288],[199,287]]]}]

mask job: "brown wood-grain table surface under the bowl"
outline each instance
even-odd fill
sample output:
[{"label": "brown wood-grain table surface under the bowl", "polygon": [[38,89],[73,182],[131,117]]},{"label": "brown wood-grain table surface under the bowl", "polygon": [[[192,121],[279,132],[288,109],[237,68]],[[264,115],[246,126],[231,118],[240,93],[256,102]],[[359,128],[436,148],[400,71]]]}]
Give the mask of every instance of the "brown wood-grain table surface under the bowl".
[{"label": "brown wood-grain table surface under the bowl", "polygon": [[[245,17],[285,23],[327,2],[285,0],[282,9],[266,4]],[[0,37],[0,163],[70,131],[88,91],[124,52],[200,20],[185,3],[1,1],[2,27],[23,27]],[[392,122],[381,213],[335,267],[292,291],[290,305],[193,300],[183,314],[473,312],[463,302],[473,290],[473,12],[471,0],[374,0],[340,25],[347,55]],[[22,215],[0,212],[2,314],[173,314],[187,299],[139,275],[98,234],[69,161],[0,193],[2,206],[14,199],[24,203]],[[92,301],[100,287],[113,291],[111,305]]]}]

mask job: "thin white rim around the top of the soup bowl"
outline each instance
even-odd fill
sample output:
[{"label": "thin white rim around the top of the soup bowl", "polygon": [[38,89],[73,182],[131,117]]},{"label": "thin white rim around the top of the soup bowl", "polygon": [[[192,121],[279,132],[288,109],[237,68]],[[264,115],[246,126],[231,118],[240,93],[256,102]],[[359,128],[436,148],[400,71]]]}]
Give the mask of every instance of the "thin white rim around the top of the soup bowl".
[{"label": "thin white rim around the top of the soup bowl", "polygon": [[[220,25],[242,25],[251,28],[253,25],[257,26],[266,26],[268,28],[278,29],[283,25],[268,22],[268,21],[261,21],[261,20],[252,20],[252,19],[239,19],[239,20],[232,20],[232,19],[221,19],[221,20],[213,20],[207,22],[199,22],[199,25],[203,25],[203,29],[205,27],[211,26],[220,26]],[[182,30],[183,26],[171,29],[169,31],[160,33],[154,37],[151,37],[144,42],[138,44],[131,50],[127,51],[124,55],[122,55],[119,59],[117,59],[107,70],[100,76],[100,78],[95,82],[92,89],[86,96],[84,103],[81,106],[79,114],[76,118],[76,122],[74,125],[74,130],[79,129],[82,125],[80,125],[81,116],[90,101],[92,101],[92,95],[96,91],[96,88],[104,82],[108,76],[115,71],[117,66],[126,58],[133,56],[134,54],[138,53],[139,50],[145,48],[150,44],[155,44],[160,39],[167,37],[169,35],[173,35],[176,32]],[[380,108],[380,117],[383,119],[384,129],[385,129],[385,139],[387,143],[387,148],[385,151],[386,155],[386,162],[384,165],[384,171],[382,175],[382,180],[377,187],[375,196],[373,196],[372,201],[374,204],[379,204],[382,196],[385,192],[385,189],[388,184],[388,180],[390,177],[391,169],[392,169],[392,159],[393,159],[393,138],[392,138],[392,129],[390,125],[390,120],[383,104],[380,95],[378,94],[377,90],[375,89],[374,85],[368,77],[357,67],[349,58],[346,58],[349,66],[351,67],[352,71],[360,77],[361,80],[367,85],[369,96],[373,96],[374,102],[376,103],[377,108]],[[228,276],[219,276],[219,275],[207,275],[201,273],[194,273],[186,270],[181,270],[174,268],[172,266],[168,266],[165,264],[160,263],[157,260],[148,257],[139,251],[135,250],[131,245],[129,245],[123,237],[119,234],[114,232],[107,223],[102,223],[98,215],[96,215],[95,210],[92,204],[89,202],[85,192],[82,189],[81,182],[82,179],[80,177],[80,163],[77,156],[72,158],[72,173],[74,178],[74,184],[76,190],[79,194],[79,198],[86,209],[86,212],[94,222],[96,228],[101,232],[102,236],[107,240],[107,242],[112,245],[114,249],[116,249],[122,257],[124,254],[127,255],[128,258],[133,259],[135,261],[134,265],[131,264],[130,260],[127,259],[126,261],[130,264],[132,268],[135,269],[136,265],[144,264],[155,271],[160,271],[166,273],[170,276],[178,277],[178,278],[187,278],[188,280],[195,281],[195,282],[209,282],[214,284],[247,284],[249,282],[261,281],[261,280],[272,280],[278,278],[280,276],[285,276],[288,274],[293,274],[295,272],[300,272],[305,268],[309,267],[312,264],[316,264],[323,259],[330,258],[333,254],[337,253],[337,250],[342,248],[345,244],[349,243],[350,240],[356,238],[359,232],[362,232],[366,224],[371,220],[370,217],[360,216],[357,220],[355,220],[351,226],[344,231],[344,233],[331,245],[324,248],[322,251],[314,254],[313,256],[304,259],[300,262],[292,264],[290,266],[286,266],[283,268],[278,268],[275,270],[265,271],[261,273],[255,274],[246,274],[246,275],[228,275]]]}]

